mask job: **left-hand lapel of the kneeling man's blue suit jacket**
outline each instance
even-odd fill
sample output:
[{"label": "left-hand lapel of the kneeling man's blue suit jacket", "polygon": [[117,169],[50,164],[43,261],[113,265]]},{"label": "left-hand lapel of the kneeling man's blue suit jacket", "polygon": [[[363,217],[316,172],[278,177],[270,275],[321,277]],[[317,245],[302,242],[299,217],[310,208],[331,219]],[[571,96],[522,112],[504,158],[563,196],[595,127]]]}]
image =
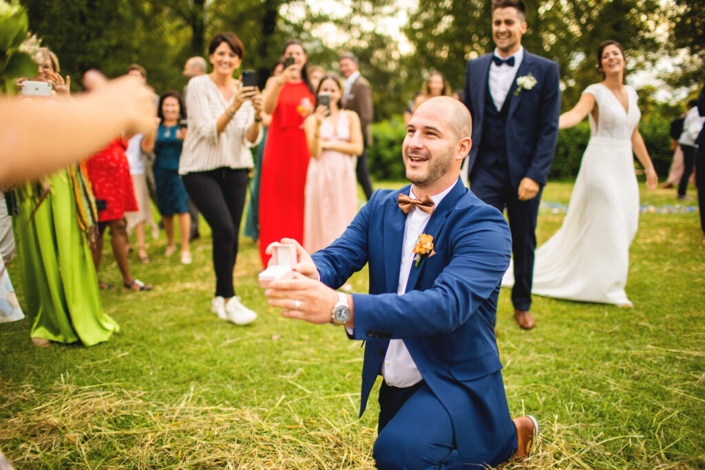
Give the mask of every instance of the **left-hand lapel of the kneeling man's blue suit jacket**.
[{"label": "left-hand lapel of the kneeling man's blue suit jacket", "polygon": [[393,197],[390,198],[384,208],[382,246],[384,247],[386,292],[396,292],[399,285],[399,266],[401,264],[401,249],[406,222],[406,214],[399,209],[396,195],[400,193],[408,195],[410,188],[411,185],[393,193]]}]

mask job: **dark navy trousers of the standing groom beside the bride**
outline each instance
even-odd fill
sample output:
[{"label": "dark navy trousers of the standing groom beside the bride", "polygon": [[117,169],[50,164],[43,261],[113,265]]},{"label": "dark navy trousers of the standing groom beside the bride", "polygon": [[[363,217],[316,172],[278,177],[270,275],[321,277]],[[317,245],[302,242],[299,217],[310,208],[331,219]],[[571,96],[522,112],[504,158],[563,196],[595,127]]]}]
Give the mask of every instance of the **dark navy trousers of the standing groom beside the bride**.
[{"label": "dark navy trousers of the standing groom beside the bride", "polygon": [[512,303],[517,310],[529,310],[534,280],[536,225],[544,188],[541,187],[534,199],[520,201],[517,188],[509,182],[508,169],[505,166],[483,166],[478,162],[470,175],[470,190],[500,212],[507,209],[514,254]]}]

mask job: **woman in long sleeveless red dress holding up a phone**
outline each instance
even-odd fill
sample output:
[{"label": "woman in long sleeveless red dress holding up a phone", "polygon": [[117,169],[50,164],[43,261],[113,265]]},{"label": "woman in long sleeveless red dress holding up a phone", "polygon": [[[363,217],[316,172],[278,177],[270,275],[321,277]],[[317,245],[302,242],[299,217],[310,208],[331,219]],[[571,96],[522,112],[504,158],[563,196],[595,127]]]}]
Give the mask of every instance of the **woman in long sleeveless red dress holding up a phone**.
[{"label": "woman in long sleeveless red dress holding up a phone", "polygon": [[269,261],[264,251],[271,242],[288,237],[302,244],[304,235],[306,173],[311,156],[303,122],[313,111],[314,98],[307,55],[300,41],[286,43],[285,66],[288,57],[293,58],[293,64],[267,80],[264,89],[264,112],[272,115],[259,186],[259,256],[264,266]]}]

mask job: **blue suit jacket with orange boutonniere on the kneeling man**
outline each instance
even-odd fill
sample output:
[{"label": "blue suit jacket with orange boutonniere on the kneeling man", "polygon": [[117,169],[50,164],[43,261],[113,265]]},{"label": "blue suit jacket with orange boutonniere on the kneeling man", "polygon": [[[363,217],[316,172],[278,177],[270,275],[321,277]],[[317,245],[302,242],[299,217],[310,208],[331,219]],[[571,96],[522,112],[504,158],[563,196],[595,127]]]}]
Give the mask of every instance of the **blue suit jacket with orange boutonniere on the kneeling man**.
[{"label": "blue suit jacket with orange boutonniere on the kneeling man", "polygon": [[494,337],[509,228],[458,180],[424,230],[434,237],[435,254],[412,266],[405,295],[397,295],[406,217],[400,192],[409,194],[410,185],[374,192],[345,233],[312,255],[321,281],[333,288],[369,263],[369,295],[353,294],[353,336],[367,342],[360,415],[389,340],[400,338],[462,436],[460,454],[482,454],[515,433]]}]

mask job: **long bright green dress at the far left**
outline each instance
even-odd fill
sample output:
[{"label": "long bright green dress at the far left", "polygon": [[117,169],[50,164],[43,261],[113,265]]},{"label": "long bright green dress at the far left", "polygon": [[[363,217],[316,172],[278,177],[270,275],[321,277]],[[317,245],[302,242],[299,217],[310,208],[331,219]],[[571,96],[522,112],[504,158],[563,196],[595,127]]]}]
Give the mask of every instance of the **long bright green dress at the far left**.
[{"label": "long bright green dress at the far left", "polygon": [[[85,185],[78,173],[78,184]],[[27,185],[20,191],[20,214],[13,217],[30,336],[92,346],[120,327],[103,311],[90,244],[77,218],[73,180],[67,170],[48,179],[50,193],[35,214],[40,191]]]}]

